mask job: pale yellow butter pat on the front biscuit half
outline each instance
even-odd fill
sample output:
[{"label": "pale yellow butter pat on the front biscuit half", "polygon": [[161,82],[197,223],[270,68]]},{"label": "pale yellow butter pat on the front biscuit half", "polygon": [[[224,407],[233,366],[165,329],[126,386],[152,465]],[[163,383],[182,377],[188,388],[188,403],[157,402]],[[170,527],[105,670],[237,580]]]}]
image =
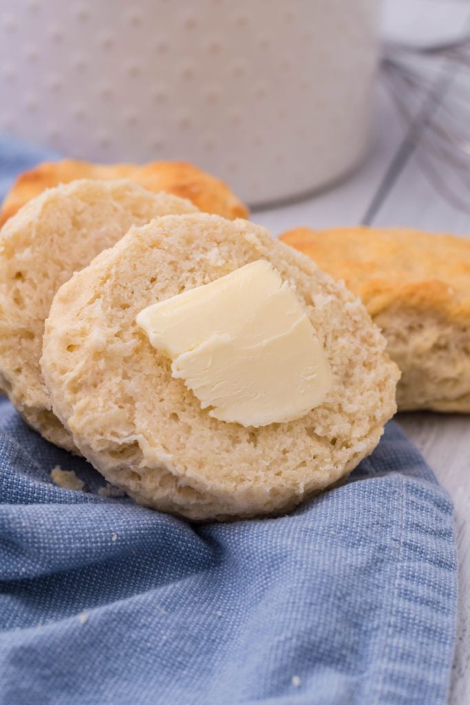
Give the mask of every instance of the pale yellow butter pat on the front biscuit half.
[{"label": "pale yellow butter pat on the front biscuit half", "polygon": [[264,259],[148,306],[136,321],[173,360],[173,377],[221,421],[293,421],[330,389],[328,360],[307,314]]}]

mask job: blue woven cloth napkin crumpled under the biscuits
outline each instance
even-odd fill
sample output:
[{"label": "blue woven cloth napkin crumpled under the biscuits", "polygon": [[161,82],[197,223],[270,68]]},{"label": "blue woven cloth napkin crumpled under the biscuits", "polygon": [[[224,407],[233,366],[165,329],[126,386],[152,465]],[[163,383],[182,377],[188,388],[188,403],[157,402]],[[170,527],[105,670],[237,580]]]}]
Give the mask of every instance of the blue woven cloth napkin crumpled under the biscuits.
[{"label": "blue woven cloth napkin crumpled under the biscuits", "polygon": [[[0,178],[37,160],[7,144]],[[277,519],[192,525],[103,484],[0,401],[2,704],[445,703],[452,504],[396,424]]]}]

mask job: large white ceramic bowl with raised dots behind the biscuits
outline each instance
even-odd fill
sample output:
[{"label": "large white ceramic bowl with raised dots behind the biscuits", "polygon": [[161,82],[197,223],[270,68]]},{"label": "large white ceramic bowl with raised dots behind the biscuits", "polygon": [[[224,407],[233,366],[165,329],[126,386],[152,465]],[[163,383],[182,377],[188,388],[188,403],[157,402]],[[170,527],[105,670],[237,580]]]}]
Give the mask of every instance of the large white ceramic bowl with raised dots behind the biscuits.
[{"label": "large white ceramic bowl with raised dots behind the biscuits", "polygon": [[366,145],[378,0],[2,0],[0,131],[94,161],[183,159],[251,204]]}]

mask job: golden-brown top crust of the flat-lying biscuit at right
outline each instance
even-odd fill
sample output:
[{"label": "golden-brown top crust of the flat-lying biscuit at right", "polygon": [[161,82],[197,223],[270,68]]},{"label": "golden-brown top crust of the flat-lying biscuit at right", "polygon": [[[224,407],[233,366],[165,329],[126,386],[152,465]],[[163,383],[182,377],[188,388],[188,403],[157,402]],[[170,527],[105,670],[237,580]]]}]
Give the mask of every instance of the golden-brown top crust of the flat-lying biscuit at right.
[{"label": "golden-brown top crust of the flat-lying biscuit at right", "polygon": [[407,304],[470,314],[470,238],[407,228],[297,228],[281,240],[359,295],[369,313]]}]

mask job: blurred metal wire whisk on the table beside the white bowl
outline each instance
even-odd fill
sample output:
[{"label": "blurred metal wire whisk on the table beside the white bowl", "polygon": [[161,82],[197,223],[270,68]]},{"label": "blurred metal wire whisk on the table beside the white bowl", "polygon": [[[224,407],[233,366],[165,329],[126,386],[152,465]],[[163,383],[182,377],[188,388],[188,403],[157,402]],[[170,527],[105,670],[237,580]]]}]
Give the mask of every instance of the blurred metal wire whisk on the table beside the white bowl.
[{"label": "blurred metal wire whisk on the table beside the white bowl", "polygon": [[[428,65],[425,71],[423,62]],[[469,66],[470,35],[427,47],[390,42],[381,63],[416,161],[440,195],[465,213],[470,213],[470,83],[459,86],[452,100],[449,90]]]}]

